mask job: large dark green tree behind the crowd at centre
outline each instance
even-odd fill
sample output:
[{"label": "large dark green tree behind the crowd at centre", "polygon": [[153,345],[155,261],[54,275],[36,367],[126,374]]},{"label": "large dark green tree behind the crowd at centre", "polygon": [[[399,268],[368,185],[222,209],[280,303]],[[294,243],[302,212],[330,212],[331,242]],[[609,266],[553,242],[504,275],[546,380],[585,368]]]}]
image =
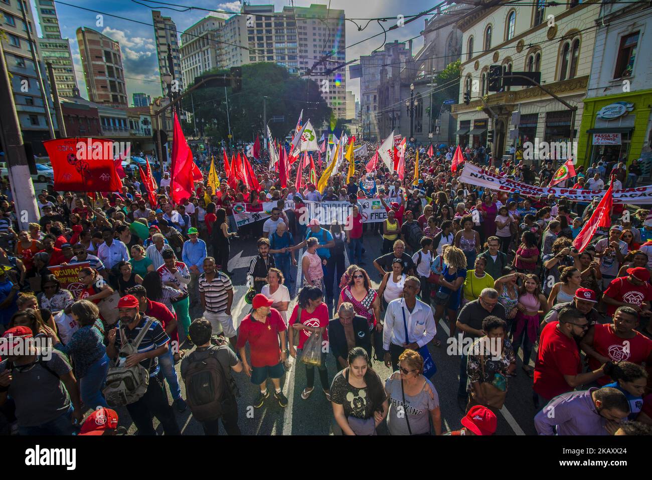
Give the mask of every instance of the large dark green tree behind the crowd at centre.
[{"label": "large dark green tree behind the crowd at centre", "polygon": [[[198,130],[203,125],[204,135],[216,144],[228,140],[229,128],[226,113],[228,100],[231,124],[231,144],[237,141],[252,142],[259,134],[265,135],[263,125],[263,99],[267,98],[267,121],[274,138],[283,139],[297,125],[303,108],[303,121],[321,125],[330,118],[331,108],[321,97],[319,85],[289,74],[275,63],[250,63],[243,65],[242,90],[236,93],[231,87],[198,89],[183,99],[183,108],[194,112]],[[211,70],[207,73],[230,74],[229,70]],[[280,123],[269,122],[271,117],[284,117]]]}]

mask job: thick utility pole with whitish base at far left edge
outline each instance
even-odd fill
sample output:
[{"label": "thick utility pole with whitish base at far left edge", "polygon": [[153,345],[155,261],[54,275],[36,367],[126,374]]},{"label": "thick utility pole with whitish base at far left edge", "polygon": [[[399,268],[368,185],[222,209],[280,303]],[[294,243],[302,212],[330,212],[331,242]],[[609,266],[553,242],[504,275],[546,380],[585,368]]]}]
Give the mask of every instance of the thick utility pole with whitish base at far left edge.
[{"label": "thick utility pole with whitish base at far left edge", "polygon": [[2,42],[0,42],[0,105],[3,106],[0,108],[0,137],[5,147],[9,186],[16,205],[18,226],[20,230],[27,230],[30,222],[38,222],[37,198],[29,174]]}]

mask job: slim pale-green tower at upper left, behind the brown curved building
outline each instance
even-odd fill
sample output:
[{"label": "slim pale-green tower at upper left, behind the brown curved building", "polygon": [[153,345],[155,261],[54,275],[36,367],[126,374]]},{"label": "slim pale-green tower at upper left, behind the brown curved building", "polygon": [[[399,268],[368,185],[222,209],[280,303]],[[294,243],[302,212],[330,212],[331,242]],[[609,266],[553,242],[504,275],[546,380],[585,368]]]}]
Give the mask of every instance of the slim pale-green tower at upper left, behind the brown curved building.
[{"label": "slim pale-green tower at upper left, behind the brown curved building", "polygon": [[[70,53],[68,38],[61,38],[59,18],[52,0],[36,0],[38,22],[40,22],[43,38],[38,38],[38,49],[43,62],[52,62],[54,82],[61,97],[72,97],[72,91],[77,86],[75,68]],[[48,82],[50,78],[48,77]]]}]

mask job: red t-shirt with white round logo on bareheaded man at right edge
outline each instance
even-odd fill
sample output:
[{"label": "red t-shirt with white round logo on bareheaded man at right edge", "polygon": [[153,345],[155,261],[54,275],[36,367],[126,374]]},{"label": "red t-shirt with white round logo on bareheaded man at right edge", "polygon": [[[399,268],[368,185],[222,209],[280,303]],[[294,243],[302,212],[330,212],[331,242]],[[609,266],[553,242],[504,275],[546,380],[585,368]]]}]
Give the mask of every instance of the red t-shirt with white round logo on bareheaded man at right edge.
[{"label": "red t-shirt with white round logo on bareheaded man at right edge", "polygon": [[[620,338],[615,335],[610,323],[596,324],[593,331],[593,350],[607,357],[612,362],[628,361],[641,365],[652,355],[652,340],[635,331],[634,338]],[[597,370],[600,363],[589,356],[589,368]],[[606,385],[612,381],[608,376],[600,377],[597,382]]]}]

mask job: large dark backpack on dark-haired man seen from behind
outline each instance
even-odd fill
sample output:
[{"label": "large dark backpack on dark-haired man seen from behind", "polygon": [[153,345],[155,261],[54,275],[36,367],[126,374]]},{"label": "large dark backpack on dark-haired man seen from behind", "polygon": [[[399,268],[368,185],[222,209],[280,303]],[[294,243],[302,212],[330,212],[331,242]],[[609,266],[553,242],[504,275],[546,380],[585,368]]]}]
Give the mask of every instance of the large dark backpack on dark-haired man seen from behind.
[{"label": "large dark backpack on dark-haired man seen from behind", "polygon": [[196,359],[197,352],[188,355],[188,369],[183,379],[186,385],[186,402],[192,416],[197,421],[205,422],[220,418],[224,413],[223,405],[231,402],[233,393],[228,382],[228,374],[217,359],[220,348],[230,348],[221,344],[207,350],[208,357]]}]

